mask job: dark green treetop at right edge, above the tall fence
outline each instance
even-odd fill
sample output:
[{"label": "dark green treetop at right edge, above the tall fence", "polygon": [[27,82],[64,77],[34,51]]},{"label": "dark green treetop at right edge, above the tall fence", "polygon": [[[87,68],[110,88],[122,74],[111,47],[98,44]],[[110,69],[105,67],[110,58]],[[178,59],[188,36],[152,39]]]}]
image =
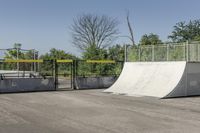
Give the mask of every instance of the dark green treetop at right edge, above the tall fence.
[{"label": "dark green treetop at right edge, above the tall fence", "polygon": [[200,19],[189,23],[179,22],[174,26],[171,35],[168,36],[173,42],[199,41],[200,40]]}]

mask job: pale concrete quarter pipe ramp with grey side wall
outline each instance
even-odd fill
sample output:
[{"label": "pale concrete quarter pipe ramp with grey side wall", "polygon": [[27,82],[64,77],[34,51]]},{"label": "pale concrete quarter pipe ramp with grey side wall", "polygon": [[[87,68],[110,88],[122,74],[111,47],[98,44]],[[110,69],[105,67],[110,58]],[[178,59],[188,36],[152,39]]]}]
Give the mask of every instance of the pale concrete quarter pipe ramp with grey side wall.
[{"label": "pale concrete quarter pipe ramp with grey side wall", "polygon": [[104,92],[159,98],[200,95],[200,63],[127,62]]}]

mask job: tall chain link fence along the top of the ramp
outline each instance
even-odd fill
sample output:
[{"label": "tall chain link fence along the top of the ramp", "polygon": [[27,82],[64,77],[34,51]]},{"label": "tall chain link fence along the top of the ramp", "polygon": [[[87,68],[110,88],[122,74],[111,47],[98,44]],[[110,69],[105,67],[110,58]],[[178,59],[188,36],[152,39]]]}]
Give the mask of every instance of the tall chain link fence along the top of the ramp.
[{"label": "tall chain link fence along the top of the ramp", "polygon": [[200,42],[127,47],[128,62],[200,61]]}]

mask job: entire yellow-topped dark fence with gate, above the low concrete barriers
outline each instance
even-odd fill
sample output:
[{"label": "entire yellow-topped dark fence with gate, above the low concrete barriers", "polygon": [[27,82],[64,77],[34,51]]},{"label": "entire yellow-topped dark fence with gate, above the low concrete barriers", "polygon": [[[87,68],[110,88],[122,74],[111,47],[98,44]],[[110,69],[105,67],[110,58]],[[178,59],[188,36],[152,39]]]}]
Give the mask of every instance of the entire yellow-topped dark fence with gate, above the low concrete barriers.
[{"label": "entire yellow-topped dark fence with gate, above the low concrete barriers", "polygon": [[[19,63],[19,70],[16,67]],[[36,63],[37,69],[32,69]],[[123,61],[115,60],[1,60],[0,81],[8,79],[53,79],[55,89],[77,88],[79,78],[103,78],[119,76]],[[36,71],[32,71],[36,70]]]}]

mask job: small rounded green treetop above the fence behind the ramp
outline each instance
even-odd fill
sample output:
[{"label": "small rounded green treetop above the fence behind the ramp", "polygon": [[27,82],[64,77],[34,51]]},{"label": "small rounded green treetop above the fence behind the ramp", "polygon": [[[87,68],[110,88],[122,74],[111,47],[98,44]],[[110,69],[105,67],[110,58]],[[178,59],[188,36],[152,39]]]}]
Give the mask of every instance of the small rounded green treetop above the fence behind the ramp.
[{"label": "small rounded green treetop above the fence behind the ramp", "polygon": [[159,36],[153,33],[150,33],[149,35],[145,34],[142,36],[140,40],[140,45],[157,45],[161,44],[162,41],[159,39]]}]

